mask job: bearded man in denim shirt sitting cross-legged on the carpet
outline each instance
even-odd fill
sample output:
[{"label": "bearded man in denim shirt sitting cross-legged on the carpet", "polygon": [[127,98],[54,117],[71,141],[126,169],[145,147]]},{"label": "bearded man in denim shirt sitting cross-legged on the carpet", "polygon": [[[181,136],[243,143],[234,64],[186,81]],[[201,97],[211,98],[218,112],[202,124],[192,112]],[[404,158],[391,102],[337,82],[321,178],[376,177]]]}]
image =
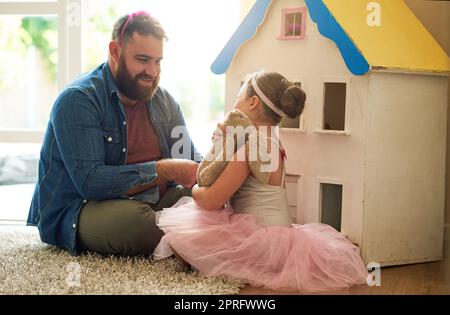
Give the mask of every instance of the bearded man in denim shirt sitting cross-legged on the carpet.
[{"label": "bearded man in denim shirt sitting cross-legged on the carpet", "polygon": [[[28,216],[43,242],[72,254],[150,255],[163,235],[155,211],[190,193],[201,156],[158,87],[165,39],[150,15],[122,17],[108,62],[56,100]],[[186,159],[174,159],[182,140],[176,154]]]}]

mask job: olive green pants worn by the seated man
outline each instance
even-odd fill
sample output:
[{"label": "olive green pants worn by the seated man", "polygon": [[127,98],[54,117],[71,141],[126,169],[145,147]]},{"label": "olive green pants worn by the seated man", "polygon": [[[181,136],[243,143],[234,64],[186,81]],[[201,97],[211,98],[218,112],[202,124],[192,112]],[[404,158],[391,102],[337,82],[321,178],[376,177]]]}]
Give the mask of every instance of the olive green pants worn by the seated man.
[{"label": "olive green pants worn by the seated man", "polygon": [[169,188],[157,204],[137,200],[89,201],[78,221],[77,247],[103,255],[151,255],[164,233],[155,213],[191,196],[182,186]]}]

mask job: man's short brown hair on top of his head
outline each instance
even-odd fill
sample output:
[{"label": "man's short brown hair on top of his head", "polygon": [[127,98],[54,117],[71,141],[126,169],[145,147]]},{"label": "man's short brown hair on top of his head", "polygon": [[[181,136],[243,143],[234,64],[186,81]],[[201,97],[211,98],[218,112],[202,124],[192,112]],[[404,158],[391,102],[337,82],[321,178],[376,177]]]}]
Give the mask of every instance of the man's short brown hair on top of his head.
[{"label": "man's short brown hair on top of his head", "polygon": [[[128,21],[129,18],[130,20]],[[125,30],[123,30],[124,27]],[[131,37],[133,37],[135,32],[139,35],[151,35],[159,40],[167,40],[166,32],[155,18],[149,15],[138,15],[131,17],[129,14],[121,17],[114,24],[112,39],[117,41],[119,44],[126,46],[127,42]]]}]

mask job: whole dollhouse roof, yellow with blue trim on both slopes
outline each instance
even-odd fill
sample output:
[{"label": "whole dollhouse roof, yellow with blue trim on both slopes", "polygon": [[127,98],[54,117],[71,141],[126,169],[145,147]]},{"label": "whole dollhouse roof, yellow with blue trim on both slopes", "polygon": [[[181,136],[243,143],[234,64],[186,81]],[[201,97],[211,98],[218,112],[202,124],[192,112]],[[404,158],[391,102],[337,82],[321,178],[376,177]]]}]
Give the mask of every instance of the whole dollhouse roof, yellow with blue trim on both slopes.
[{"label": "whole dollhouse roof, yellow with blue trim on both slopes", "polygon": [[[450,73],[450,59],[403,0],[377,0],[380,26],[369,26],[369,0],[305,0],[319,32],[334,41],[350,72],[372,70]],[[237,50],[263,23],[271,0],[257,0],[211,66],[225,73]]]}]

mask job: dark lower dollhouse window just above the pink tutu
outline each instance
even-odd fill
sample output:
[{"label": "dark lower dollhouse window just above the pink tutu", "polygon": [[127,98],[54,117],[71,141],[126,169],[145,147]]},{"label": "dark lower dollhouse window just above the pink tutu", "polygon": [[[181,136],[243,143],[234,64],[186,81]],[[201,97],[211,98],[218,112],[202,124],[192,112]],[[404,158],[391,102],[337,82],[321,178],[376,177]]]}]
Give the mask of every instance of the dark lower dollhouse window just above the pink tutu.
[{"label": "dark lower dollhouse window just above the pink tutu", "polygon": [[320,222],[341,231],[342,185],[320,184]]}]

